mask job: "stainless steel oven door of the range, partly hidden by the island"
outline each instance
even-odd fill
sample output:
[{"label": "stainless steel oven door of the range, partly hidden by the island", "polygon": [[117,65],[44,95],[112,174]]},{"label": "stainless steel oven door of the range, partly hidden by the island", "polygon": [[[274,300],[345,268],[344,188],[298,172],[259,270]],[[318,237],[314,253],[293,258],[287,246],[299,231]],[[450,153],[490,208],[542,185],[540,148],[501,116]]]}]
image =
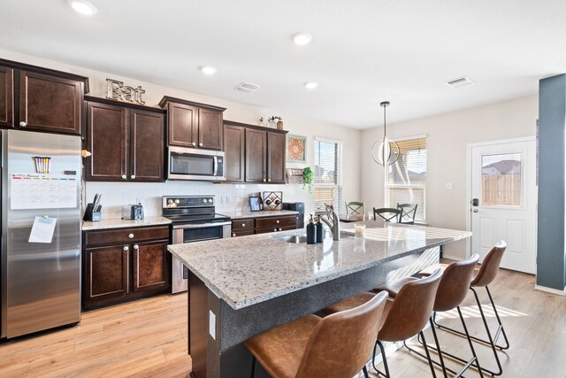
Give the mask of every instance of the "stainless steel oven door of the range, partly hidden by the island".
[{"label": "stainless steel oven door of the range, partly hidden by the island", "polygon": [[[193,243],[230,237],[231,221],[173,225],[172,243]],[[187,291],[188,269],[179,258],[172,257],[171,293]]]}]

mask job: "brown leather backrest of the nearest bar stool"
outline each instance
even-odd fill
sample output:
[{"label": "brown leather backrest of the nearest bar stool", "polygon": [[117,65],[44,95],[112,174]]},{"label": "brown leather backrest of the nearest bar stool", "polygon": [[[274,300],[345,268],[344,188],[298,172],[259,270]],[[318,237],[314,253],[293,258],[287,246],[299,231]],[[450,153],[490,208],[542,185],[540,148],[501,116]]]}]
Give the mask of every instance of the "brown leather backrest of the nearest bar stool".
[{"label": "brown leather backrest of the nearest bar stool", "polygon": [[362,370],[378,335],[386,293],[321,320],[305,347],[297,378],[352,377]]}]

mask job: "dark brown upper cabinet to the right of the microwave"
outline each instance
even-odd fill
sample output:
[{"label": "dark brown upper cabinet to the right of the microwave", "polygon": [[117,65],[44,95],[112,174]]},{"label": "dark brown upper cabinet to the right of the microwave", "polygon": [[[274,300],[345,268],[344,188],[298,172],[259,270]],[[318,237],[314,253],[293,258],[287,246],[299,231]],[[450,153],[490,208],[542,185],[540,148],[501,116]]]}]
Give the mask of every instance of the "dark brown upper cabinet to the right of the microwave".
[{"label": "dark brown upper cabinet to the right of the microwave", "polygon": [[226,182],[285,183],[286,134],[226,120]]}]

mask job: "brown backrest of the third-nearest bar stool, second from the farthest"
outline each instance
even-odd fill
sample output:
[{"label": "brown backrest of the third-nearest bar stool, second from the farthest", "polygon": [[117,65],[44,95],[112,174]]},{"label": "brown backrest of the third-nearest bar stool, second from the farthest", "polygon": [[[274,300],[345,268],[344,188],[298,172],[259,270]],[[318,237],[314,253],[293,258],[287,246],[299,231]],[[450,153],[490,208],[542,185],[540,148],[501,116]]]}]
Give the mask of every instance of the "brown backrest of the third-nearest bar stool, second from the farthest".
[{"label": "brown backrest of the third-nearest bar stool, second from the farthest", "polygon": [[456,261],[444,269],[439,289],[436,291],[434,311],[449,311],[460,305],[468,294],[474,269],[479,255],[473,255],[462,261]]}]

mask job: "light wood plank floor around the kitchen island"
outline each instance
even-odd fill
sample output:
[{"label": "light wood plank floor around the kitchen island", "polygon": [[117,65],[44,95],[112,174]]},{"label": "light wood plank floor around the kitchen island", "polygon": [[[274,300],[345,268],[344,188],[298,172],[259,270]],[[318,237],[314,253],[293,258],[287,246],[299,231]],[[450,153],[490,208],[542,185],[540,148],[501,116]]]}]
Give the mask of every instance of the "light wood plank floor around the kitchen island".
[{"label": "light wood plank floor around the kitchen island", "polygon": [[[566,378],[566,297],[534,290],[533,281],[532,275],[501,270],[491,287],[511,343],[501,353],[502,376]],[[486,298],[484,292],[480,296]],[[473,333],[481,336],[483,325],[474,304],[469,295],[463,310]],[[488,321],[493,324],[493,319]],[[430,330],[425,335],[432,342]],[[465,339],[440,331],[440,343],[468,356]],[[476,348],[480,363],[494,368],[490,350]],[[404,349],[388,361],[394,377],[432,376],[424,361]],[[0,377],[186,377],[190,368],[185,295],[84,312],[73,328],[0,345]],[[464,375],[478,376],[473,370]]]}]

